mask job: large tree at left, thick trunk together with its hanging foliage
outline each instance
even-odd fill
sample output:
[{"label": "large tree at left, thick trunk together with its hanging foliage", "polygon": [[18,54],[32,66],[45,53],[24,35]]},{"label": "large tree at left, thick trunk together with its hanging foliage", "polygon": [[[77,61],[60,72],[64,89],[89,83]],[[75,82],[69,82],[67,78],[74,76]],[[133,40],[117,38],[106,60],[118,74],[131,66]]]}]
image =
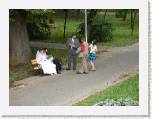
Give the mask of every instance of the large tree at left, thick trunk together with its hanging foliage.
[{"label": "large tree at left, thick trunk together with its hanging foliage", "polygon": [[30,38],[47,38],[53,23],[53,10],[11,9],[9,11],[10,65],[26,64],[30,61]]}]

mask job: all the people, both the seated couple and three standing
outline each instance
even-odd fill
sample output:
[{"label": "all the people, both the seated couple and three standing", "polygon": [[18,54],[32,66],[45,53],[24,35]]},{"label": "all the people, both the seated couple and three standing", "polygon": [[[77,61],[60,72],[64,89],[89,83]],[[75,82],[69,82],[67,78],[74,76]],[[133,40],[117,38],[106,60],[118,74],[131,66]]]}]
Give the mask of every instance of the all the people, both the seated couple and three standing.
[{"label": "all the people, both the seated couple and three standing", "polygon": [[[91,64],[91,71],[95,71],[96,60],[96,40],[93,40],[90,45],[84,38],[78,40],[75,35],[69,38],[66,42],[68,48],[68,67],[67,70],[76,70],[77,57],[80,58],[81,66],[78,69],[78,74],[88,74],[88,60]],[[48,57],[47,48],[41,48],[36,53],[36,61],[41,66],[44,74],[59,74],[61,73],[61,61],[53,56]],[[73,66],[72,66],[73,65]]]}]

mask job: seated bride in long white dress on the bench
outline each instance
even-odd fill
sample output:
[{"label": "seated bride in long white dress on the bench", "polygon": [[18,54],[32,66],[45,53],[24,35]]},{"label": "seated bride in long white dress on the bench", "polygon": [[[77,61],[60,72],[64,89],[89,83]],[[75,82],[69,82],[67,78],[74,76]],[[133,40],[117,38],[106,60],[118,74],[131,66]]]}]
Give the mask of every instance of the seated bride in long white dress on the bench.
[{"label": "seated bride in long white dress on the bench", "polygon": [[37,51],[36,61],[41,65],[44,74],[57,74],[56,65],[53,63],[53,57],[48,59],[47,49],[42,48]]}]

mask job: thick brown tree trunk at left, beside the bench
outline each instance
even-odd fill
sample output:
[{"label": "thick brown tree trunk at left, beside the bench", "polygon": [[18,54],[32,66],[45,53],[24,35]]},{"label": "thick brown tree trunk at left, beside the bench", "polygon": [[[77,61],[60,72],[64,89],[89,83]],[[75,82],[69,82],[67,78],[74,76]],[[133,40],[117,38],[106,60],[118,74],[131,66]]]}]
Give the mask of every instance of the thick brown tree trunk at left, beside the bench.
[{"label": "thick brown tree trunk at left, beside the bench", "polygon": [[30,57],[25,11],[16,10],[14,21],[9,22],[9,62],[12,66],[26,64],[30,61]]}]

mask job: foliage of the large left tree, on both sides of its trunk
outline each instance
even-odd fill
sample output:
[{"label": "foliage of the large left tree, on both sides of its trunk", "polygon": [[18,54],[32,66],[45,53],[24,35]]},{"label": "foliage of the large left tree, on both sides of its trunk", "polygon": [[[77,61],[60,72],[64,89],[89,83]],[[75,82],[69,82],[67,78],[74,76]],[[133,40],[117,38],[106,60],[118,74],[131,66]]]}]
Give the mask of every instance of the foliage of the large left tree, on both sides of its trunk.
[{"label": "foliage of the large left tree, on both sides of its trunk", "polygon": [[30,39],[49,38],[53,24],[52,13],[53,10],[46,9],[10,9],[9,20],[15,21],[15,16],[18,13],[24,15],[27,24],[27,30]]}]

